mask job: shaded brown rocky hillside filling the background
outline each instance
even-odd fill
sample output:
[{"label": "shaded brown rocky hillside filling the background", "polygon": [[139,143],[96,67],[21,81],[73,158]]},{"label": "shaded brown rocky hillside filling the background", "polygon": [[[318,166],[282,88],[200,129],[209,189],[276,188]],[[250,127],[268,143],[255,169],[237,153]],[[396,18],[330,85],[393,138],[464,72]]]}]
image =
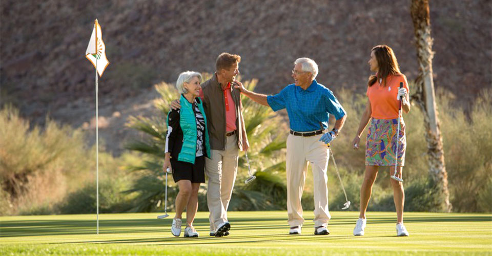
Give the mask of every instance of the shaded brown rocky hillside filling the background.
[{"label": "shaded brown rocky hillside filling the background", "polygon": [[[318,62],[321,83],[360,93],[378,44],[391,46],[402,72],[416,77],[410,2],[3,0],[1,101],[35,122],[46,114],[87,122],[94,69],[84,54],[94,18],[111,62],[99,83],[99,105],[110,116],[116,106],[145,105],[142,93],[181,71],[213,72],[224,51],[242,56],[243,78],[258,78],[263,93],[291,83],[293,61],[304,56]],[[430,10],[436,87],[467,104],[492,84],[491,1],[435,0]]]}]

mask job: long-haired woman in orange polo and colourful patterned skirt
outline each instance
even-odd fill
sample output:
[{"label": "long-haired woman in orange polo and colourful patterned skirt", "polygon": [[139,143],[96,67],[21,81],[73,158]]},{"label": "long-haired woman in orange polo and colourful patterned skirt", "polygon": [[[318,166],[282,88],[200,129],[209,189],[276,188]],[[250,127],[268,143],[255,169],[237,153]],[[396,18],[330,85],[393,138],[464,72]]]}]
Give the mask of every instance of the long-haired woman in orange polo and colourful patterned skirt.
[{"label": "long-haired woman in orange polo and colourful patterned skirt", "polygon": [[[365,212],[379,167],[390,166],[389,172],[394,175],[395,162],[397,162],[395,176],[400,179],[402,177],[406,138],[405,122],[403,117],[399,116],[400,99],[403,112],[410,111],[408,83],[405,75],[400,72],[393,50],[386,45],[374,47],[368,63],[375,74],[368,79],[366,93],[368,100],[365,112],[362,114],[359,129],[352,142],[354,149],[358,149],[360,136],[370,123],[365,150],[365,177],[360,188],[360,215],[354,228],[354,236],[364,235]],[[400,83],[403,83],[401,89],[399,88]],[[408,231],[403,225],[405,202],[403,183],[394,179],[390,181],[397,214],[397,236],[408,236]]]}]

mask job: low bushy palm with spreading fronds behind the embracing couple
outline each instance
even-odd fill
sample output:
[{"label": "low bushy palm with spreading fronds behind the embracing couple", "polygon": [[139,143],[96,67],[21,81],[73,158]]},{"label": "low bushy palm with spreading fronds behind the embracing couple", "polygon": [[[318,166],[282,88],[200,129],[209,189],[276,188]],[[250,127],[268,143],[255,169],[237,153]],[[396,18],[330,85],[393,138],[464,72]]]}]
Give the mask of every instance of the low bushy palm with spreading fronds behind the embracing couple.
[{"label": "low bushy palm with spreading fronds behind the embracing couple", "polygon": [[[203,74],[203,79],[210,78],[210,74]],[[248,90],[256,87],[257,80],[245,81],[244,86]],[[156,84],[156,91],[160,98],[154,101],[154,108],[161,113],[153,118],[130,117],[127,126],[140,131],[145,137],[139,141],[129,143],[129,150],[142,153],[146,158],[141,166],[129,166],[133,172],[139,172],[140,178],[133,184],[127,193],[139,194],[130,211],[154,211],[162,208],[165,187],[162,184],[162,160],[166,144],[166,116],[172,100],[179,94],[171,84],[161,82]],[[256,180],[248,185],[244,180],[248,178],[248,167],[240,153],[239,170],[236,185],[229,205],[230,210],[261,210],[282,209],[285,205],[285,175],[280,174],[285,170],[285,137],[279,136],[278,124],[282,118],[276,115],[268,107],[254,103],[249,98],[242,96],[244,122],[248,134],[250,149],[248,150],[252,170],[256,170]],[[169,177],[168,177],[169,178]],[[172,179],[171,179],[172,180]],[[168,206],[173,209],[174,197],[177,194],[176,186],[168,187]],[[202,184],[199,197],[204,199],[207,186]],[[207,210],[205,200],[199,199],[199,210]]]}]

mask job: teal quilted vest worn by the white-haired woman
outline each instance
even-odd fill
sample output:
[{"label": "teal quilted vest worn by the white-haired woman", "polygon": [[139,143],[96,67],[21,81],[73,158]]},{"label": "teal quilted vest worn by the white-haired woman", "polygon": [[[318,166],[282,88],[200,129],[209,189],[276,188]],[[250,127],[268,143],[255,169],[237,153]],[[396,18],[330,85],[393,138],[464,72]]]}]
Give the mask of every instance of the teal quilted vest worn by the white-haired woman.
[{"label": "teal quilted vest worn by the white-haired woman", "polygon": [[[179,126],[183,131],[183,145],[181,147],[181,152],[178,155],[178,161],[195,163],[196,158],[196,119],[195,113],[193,112],[193,104],[188,102],[188,100],[181,95],[179,99],[181,104],[181,111],[179,113]],[[207,128],[207,116],[205,116],[205,111],[203,110],[203,103],[201,99],[198,99],[198,109],[205,119],[205,140],[203,146],[206,149],[207,157],[210,158],[210,142],[209,142],[209,130]]]}]

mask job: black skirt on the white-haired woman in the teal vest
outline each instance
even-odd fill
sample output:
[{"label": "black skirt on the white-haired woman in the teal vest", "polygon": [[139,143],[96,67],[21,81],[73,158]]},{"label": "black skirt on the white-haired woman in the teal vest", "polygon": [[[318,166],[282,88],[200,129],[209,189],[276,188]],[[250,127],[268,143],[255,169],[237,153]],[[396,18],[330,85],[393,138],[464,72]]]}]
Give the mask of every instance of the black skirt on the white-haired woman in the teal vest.
[{"label": "black skirt on the white-haired woman in the teal vest", "polygon": [[171,159],[174,182],[189,180],[192,183],[205,182],[205,156],[196,157],[195,164]]}]

